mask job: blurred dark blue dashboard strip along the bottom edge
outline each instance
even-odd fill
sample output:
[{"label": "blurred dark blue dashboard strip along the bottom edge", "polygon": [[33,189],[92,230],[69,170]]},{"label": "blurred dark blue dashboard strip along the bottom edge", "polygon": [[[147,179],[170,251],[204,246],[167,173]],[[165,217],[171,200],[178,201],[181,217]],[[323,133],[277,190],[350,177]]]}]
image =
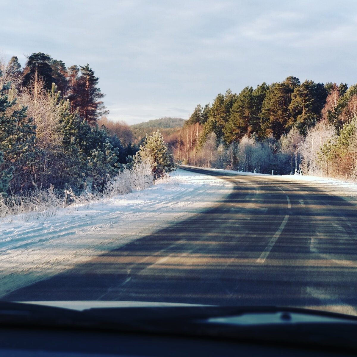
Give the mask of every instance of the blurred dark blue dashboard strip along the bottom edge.
[{"label": "blurred dark blue dashboard strip along the bottom edge", "polygon": [[[0,356],[343,356],[313,346],[276,345],[144,333],[85,329],[0,328]],[[349,355],[346,352],[346,356]]]}]

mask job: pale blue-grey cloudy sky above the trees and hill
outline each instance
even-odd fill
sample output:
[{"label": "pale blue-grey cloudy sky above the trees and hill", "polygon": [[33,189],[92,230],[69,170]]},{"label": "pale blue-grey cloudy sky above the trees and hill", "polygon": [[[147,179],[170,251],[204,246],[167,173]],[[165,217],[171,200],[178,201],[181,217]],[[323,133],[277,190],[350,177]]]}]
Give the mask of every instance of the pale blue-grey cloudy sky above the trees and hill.
[{"label": "pale blue-grey cloudy sky above the trees and hill", "polygon": [[0,54],[89,63],[111,120],[188,119],[228,88],[357,82],[357,1],[1,0]]}]

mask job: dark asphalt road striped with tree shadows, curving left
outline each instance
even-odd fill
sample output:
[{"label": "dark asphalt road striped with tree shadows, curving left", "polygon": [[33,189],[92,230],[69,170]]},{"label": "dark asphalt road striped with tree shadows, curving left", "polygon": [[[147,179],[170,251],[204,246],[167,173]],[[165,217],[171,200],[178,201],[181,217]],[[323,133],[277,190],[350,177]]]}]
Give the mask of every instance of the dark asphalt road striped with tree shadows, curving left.
[{"label": "dark asphalt road striped with tree shadows, curving left", "polygon": [[188,220],[2,300],[280,305],[357,314],[356,206],[313,183],[192,171],[225,178],[234,190]]}]

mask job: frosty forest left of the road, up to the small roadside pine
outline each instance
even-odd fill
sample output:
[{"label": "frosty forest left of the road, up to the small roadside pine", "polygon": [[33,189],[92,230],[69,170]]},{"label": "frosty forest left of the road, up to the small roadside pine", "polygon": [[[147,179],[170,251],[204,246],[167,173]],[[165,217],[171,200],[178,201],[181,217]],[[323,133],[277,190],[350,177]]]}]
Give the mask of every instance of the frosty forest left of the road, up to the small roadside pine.
[{"label": "frosty forest left of the road, up to the small roadside pine", "polygon": [[125,175],[145,186],[174,168],[160,133],[134,144],[127,124],[106,119],[98,82],[89,64],[67,68],[44,53],[24,68],[15,56],[0,63],[0,213],[41,192],[123,193]]}]

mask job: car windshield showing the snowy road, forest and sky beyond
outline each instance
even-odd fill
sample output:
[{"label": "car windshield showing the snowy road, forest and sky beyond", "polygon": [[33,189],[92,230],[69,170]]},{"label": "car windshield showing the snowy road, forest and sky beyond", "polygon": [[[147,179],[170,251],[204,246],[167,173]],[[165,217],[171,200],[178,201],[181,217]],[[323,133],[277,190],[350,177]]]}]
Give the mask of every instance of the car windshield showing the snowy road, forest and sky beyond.
[{"label": "car windshield showing the snowy road, forest and sky beyond", "polygon": [[327,3],[5,1],[0,299],[357,315],[357,5]]}]

